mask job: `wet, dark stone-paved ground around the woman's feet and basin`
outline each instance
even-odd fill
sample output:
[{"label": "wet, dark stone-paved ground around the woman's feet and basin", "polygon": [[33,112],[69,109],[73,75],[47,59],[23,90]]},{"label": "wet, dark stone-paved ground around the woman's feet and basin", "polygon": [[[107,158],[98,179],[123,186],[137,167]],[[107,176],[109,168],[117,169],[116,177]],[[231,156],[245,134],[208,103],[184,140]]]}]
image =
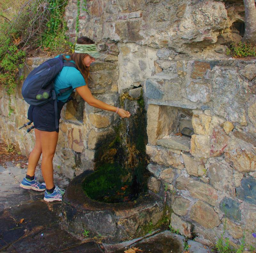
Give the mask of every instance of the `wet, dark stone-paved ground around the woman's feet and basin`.
[{"label": "wet, dark stone-paved ground around the woman's feet and basin", "polygon": [[[142,238],[113,245],[104,244],[99,238],[86,237],[86,234],[72,235],[64,229],[61,202],[45,202],[44,192],[20,188],[27,162],[27,157],[20,155],[14,146],[0,143],[0,252],[188,252],[184,249],[185,237],[170,231],[152,231]],[[40,166],[36,174],[42,182]],[[64,176],[54,173],[54,183],[60,188],[65,189],[68,182]],[[188,243],[189,253],[210,252],[198,242]]]}]

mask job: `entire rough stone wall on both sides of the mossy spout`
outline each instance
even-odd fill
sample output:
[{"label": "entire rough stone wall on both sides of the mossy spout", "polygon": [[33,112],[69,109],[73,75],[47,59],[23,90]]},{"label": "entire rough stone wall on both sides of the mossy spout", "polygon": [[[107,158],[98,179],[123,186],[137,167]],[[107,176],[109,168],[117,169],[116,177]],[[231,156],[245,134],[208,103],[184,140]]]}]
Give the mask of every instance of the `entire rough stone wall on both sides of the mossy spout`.
[{"label": "entire rough stone wall on both sides of the mossy spout", "polygon": [[[82,1],[81,1],[82,4]],[[242,1],[70,0],[68,35],[88,36],[104,53],[92,67],[92,93],[117,105],[118,94],[142,87],[147,109],[150,191],[172,207],[171,225],[211,245],[225,229],[232,243],[255,245],[256,227],[256,61],[225,55],[240,41]],[[31,65],[31,64],[30,64]],[[1,93],[1,136],[28,154],[33,135],[23,137],[27,105],[20,86],[11,100]],[[54,158],[72,177],[92,169],[95,154],[113,133],[116,115],[75,96],[62,113]],[[176,136],[184,127],[191,138]]]}]

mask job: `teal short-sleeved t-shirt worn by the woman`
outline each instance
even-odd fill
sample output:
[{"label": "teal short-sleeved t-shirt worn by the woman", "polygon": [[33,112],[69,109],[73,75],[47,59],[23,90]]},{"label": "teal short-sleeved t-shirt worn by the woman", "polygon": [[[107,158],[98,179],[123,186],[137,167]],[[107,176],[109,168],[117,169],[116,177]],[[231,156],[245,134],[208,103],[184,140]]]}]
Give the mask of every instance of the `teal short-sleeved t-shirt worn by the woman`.
[{"label": "teal short-sleeved t-shirt worn by the woman", "polygon": [[[66,57],[69,58],[69,56]],[[74,61],[71,62],[75,63]],[[58,94],[61,89],[68,87],[72,87],[72,89],[58,96],[58,101],[66,102],[71,95],[73,89],[84,85],[86,85],[84,77],[78,69],[74,67],[64,66],[60,71],[60,74],[57,75],[54,80],[54,90],[56,94]]]}]

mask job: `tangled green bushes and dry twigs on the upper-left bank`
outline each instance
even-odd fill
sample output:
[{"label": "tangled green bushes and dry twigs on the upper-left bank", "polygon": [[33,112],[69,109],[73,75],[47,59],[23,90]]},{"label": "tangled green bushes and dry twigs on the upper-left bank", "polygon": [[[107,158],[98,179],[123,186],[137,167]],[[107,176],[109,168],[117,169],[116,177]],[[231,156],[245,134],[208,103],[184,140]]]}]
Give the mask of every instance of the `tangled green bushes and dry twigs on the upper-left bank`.
[{"label": "tangled green bushes and dry twigs on the upper-left bank", "polygon": [[[51,51],[55,55],[69,50],[71,44],[62,19],[67,3],[68,0],[22,0],[0,5],[0,85],[8,95],[15,92],[19,68],[28,53]],[[13,11],[9,13],[7,9]]]}]

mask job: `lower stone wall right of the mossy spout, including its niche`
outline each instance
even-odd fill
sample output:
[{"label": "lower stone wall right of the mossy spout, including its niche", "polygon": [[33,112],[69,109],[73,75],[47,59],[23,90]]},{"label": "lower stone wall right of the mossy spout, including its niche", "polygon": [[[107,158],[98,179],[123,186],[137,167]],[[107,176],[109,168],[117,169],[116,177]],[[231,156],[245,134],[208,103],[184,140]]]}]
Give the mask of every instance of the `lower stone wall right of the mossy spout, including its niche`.
[{"label": "lower stone wall right of the mossy spout, including its niche", "polygon": [[[160,195],[169,189],[171,225],[181,234],[210,245],[226,226],[232,242],[244,234],[255,245],[256,60],[171,63],[145,85],[148,187]],[[184,120],[191,139],[175,136],[189,127]]]}]

